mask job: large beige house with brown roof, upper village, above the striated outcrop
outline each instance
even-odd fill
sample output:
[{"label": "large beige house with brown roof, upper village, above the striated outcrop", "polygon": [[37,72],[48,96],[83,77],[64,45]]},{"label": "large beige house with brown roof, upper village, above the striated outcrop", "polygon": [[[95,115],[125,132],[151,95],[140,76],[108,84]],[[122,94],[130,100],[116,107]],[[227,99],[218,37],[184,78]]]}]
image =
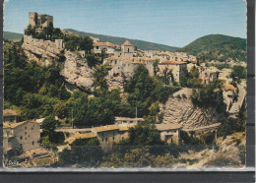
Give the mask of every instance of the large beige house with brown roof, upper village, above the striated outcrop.
[{"label": "large beige house with brown roof, upper village, above the striated outcrop", "polygon": [[165,69],[171,71],[174,82],[179,82],[181,74],[187,73],[187,63],[178,61],[164,61],[159,63],[160,74],[163,73]]}]

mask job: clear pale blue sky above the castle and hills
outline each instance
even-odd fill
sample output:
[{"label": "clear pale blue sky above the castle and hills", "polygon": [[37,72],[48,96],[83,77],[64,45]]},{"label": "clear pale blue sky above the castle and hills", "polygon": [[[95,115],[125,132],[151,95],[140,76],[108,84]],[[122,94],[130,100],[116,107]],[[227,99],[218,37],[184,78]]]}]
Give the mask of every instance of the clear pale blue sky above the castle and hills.
[{"label": "clear pale blue sky above the castle and hills", "polygon": [[245,0],[7,0],[4,30],[23,33],[29,12],[53,26],[183,47],[207,34],[246,38]]}]

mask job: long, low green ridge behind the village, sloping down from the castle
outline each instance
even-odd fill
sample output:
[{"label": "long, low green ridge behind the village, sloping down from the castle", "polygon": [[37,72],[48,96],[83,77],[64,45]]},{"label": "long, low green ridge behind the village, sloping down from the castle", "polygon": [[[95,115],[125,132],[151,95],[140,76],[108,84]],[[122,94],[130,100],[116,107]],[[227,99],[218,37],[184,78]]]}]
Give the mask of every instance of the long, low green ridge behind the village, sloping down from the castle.
[{"label": "long, low green ridge behind the village, sloping down from the castle", "polygon": [[134,46],[137,46],[139,49],[143,50],[165,50],[165,51],[175,51],[177,47],[158,44],[154,42],[144,41],[144,40],[137,40],[137,39],[129,39],[125,37],[118,37],[118,36],[110,36],[110,35],[103,35],[103,34],[96,34],[90,33],[85,31],[78,31],[72,29],[66,29],[67,31],[79,34],[79,35],[87,35],[87,36],[94,36],[98,37],[100,41],[105,42],[112,42],[114,44],[122,44],[125,40],[129,40]]}]

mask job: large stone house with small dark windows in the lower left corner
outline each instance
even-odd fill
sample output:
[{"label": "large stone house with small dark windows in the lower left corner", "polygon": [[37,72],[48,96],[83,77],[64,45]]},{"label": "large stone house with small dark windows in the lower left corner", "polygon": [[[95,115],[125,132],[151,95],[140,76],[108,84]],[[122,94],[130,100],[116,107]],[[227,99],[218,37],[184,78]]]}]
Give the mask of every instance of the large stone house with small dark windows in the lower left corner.
[{"label": "large stone house with small dark windows in the lower left corner", "polygon": [[21,149],[24,152],[39,148],[40,124],[35,121],[4,123],[4,151]]}]

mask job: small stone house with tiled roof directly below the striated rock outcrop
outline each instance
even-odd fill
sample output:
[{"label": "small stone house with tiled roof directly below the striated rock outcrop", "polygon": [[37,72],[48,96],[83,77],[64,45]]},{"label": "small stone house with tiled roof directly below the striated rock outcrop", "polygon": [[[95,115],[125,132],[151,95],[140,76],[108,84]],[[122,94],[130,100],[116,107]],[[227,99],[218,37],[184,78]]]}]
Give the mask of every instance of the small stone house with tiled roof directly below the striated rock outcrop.
[{"label": "small stone house with tiled roof directly below the striated rock outcrop", "polygon": [[156,124],[157,129],[160,131],[160,140],[167,144],[179,144],[181,124]]}]

